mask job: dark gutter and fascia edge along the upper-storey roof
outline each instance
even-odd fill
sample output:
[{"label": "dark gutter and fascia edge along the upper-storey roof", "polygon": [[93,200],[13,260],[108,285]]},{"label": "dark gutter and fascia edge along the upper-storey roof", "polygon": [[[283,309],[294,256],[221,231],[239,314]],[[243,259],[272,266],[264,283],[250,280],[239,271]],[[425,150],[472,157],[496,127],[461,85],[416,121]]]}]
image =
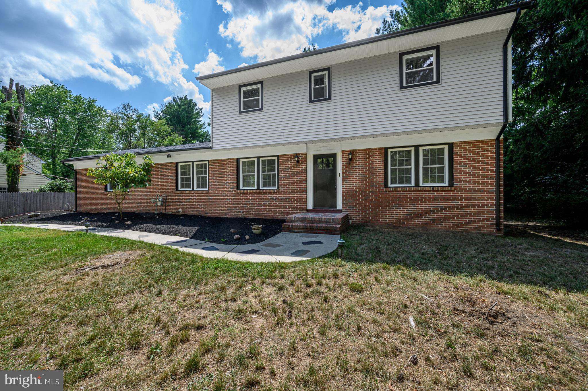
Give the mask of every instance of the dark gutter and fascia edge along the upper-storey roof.
[{"label": "dark gutter and fascia edge along the upper-storey roof", "polygon": [[442,27],[446,27],[446,26],[452,26],[452,25],[456,25],[459,23],[476,21],[477,19],[490,18],[491,16],[508,14],[509,12],[514,12],[514,11],[517,11],[520,9],[530,8],[531,5],[532,5],[532,1],[527,0],[527,1],[517,3],[517,4],[509,5],[506,7],[490,9],[490,11],[479,12],[477,14],[460,16],[459,18],[453,18],[453,19],[447,19],[446,21],[429,23],[427,25],[416,26],[416,27],[405,29],[405,30],[387,33],[384,35],[376,35],[376,36],[372,36],[370,38],[360,39],[359,41],[341,43],[340,45],[329,46],[328,48],[311,50],[310,52],[298,53],[298,54],[291,55],[291,56],[286,56],[286,57],[277,58],[277,59],[273,59],[273,60],[269,60],[269,61],[259,62],[256,64],[243,66],[241,68],[233,68],[233,69],[223,70],[222,72],[210,73],[209,75],[197,76],[196,80],[200,81],[200,80],[206,80],[206,79],[213,79],[214,77],[231,75],[232,73],[245,72],[246,70],[263,68],[264,66],[274,65],[274,64],[278,64],[278,63],[282,63],[282,62],[288,62],[288,61],[297,60],[297,59],[305,58],[305,57],[309,57],[309,56],[316,56],[316,55],[321,55],[324,53],[335,52],[336,50],[354,48],[355,46],[361,46],[361,45],[367,45],[368,43],[385,41],[386,39],[398,38],[400,36],[415,34],[415,33],[423,32],[423,31],[429,31],[432,29],[442,28]]}]

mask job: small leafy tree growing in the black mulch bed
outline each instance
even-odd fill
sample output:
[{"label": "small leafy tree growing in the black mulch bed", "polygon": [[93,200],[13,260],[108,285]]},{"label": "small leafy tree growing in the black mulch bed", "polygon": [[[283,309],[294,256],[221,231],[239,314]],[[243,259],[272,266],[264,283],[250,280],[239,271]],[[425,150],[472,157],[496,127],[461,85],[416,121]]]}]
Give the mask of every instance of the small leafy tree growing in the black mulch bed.
[{"label": "small leafy tree growing in the black mulch bed", "polygon": [[122,220],[122,203],[131,188],[141,188],[151,185],[151,169],[155,166],[148,155],[143,156],[143,163],[137,164],[135,154],[118,155],[111,153],[96,161],[99,167],[88,168],[88,176],[95,177],[94,183],[107,186],[111,184],[112,192],[118,205]]}]

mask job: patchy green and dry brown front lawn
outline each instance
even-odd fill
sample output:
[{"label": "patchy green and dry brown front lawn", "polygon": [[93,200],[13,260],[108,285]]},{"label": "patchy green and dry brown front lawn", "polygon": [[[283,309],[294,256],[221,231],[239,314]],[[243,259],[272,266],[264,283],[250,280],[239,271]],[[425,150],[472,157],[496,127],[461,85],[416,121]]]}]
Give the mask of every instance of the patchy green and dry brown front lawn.
[{"label": "patchy green and dry brown front lawn", "polygon": [[344,238],[343,259],[246,264],[0,227],[0,369],[84,391],[585,389],[588,246]]}]

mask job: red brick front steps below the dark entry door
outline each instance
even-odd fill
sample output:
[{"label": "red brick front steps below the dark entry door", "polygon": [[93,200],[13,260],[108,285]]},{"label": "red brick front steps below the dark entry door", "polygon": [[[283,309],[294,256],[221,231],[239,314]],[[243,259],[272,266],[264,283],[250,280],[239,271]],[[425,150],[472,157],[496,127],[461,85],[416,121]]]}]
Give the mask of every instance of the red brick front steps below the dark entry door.
[{"label": "red brick front steps below the dark entry door", "polygon": [[347,213],[296,213],[286,217],[284,232],[339,235],[349,228]]}]

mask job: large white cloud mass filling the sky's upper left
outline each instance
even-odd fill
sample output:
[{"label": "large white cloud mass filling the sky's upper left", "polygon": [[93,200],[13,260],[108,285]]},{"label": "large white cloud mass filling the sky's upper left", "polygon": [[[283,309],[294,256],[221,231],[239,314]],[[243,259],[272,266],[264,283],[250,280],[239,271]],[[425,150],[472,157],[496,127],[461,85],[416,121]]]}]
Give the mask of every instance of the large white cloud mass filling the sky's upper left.
[{"label": "large white cloud mass filling the sky's upper left", "polygon": [[[25,85],[92,77],[120,90],[143,77],[203,108],[198,87],[176,48],[182,13],[173,0],[21,0],[0,24],[0,79]],[[23,28],[26,26],[26,28]]]}]

